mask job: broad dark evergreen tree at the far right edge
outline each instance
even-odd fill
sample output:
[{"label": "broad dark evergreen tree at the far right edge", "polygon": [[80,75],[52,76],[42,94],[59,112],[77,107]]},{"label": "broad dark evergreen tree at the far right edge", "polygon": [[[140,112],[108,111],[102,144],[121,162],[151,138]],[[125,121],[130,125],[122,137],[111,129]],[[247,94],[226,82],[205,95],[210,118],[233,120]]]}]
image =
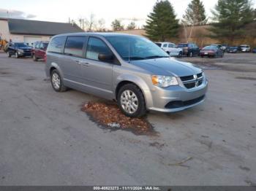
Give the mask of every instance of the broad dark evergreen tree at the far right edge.
[{"label": "broad dark evergreen tree at the far right edge", "polygon": [[211,37],[233,43],[234,39],[246,35],[245,26],[255,19],[249,0],[219,0],[212,11],[214,17]]}]

